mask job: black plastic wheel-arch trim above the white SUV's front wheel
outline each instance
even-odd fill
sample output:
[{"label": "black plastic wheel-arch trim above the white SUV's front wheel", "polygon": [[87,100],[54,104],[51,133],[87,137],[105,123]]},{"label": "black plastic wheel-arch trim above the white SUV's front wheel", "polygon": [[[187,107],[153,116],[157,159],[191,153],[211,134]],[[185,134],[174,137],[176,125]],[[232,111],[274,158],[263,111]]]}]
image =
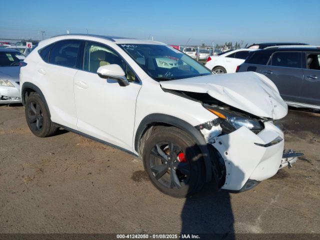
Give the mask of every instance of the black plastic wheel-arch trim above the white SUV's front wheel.
[{"label": "black plastic wheel-arch trim above the white SUV's front wheel", "polygon": [[194,126],[175,116],[162,114],[162,113],[152,113],[145,116],[141,120],[139,126],[137,127],[137,130],[134,136],[134,149],[137,152],[140,147],[141,137],[144,135],[144,133],[146,133],[147,130],[149,130],[151,127],[155,125],[175,126],[185,131],[186,133],[188,133],[196,142],[196,144],[199,146],[199,149],[203,154],[206,181],[208,182],[212,179],[212,170],[213,170],[215,172],[215,174],[213,175],[213,177],[215,178],[215,182],[218,182],[217,171],[214,166],[215,164],[212,163],[212,160],[210,158],[212,154],[210,154],[210,148],[207,145],[208,143],[205,142],[202,134]]}]

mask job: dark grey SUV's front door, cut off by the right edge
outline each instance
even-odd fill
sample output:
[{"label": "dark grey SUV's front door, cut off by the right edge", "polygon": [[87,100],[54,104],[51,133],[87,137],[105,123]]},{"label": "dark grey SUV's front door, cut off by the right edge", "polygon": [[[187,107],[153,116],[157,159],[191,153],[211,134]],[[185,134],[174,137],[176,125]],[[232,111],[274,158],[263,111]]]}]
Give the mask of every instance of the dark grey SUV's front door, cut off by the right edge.
[{"label": "dark grey SUV's front door, cut off by the right edge", "polygon": [[305,53],[305,69],[303,69],[303,84],[301,100],[307,104],[320,105],[320,53]]}]

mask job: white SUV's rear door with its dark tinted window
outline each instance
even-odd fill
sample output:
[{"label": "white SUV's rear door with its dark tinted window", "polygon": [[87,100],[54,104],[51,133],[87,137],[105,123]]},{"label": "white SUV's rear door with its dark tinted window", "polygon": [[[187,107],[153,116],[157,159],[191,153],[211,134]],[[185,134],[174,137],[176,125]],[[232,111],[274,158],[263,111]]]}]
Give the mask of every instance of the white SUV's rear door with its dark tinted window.
[{"label": "white SUV's rear door with its dark tinted window", "polygon": [[[61,40],[40,50],[43,61],[37,64],[37,83],[45,95],[51,120],[76,128],[73,76],[79,68],[82,41]],[[43,86],[43,87],[42,87]]]}]

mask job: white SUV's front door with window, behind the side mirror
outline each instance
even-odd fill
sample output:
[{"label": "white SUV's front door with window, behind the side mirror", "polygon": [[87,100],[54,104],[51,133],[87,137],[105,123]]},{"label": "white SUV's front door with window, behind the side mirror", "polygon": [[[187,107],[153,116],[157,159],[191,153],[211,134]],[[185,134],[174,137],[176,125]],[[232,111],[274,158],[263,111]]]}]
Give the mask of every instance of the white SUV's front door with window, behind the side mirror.
[{"label": "white SUV's front door with window, behind the side mirror", "polygon": [[[99,66],[118,64],[130,81],[120,86],[96,73]],[[141,84],[129,66],[104,44],[86,42],[83,70],[74,76],[78,130],[132,151],[135,101]]]}]

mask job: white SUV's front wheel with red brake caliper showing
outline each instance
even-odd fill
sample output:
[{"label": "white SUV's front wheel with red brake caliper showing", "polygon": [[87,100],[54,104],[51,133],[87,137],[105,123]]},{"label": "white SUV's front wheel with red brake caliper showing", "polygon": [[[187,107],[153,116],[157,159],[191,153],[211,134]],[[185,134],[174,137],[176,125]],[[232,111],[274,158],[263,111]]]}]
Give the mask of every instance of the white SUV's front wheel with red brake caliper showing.
[{"label": "white SUV's front wheel with red brake caliper showing", "polygon": [[164,194],[186,197],[199,191],[205,181],[198,146],[176,127],[156,128],[146,139],[142,160],[150,181]]}]

